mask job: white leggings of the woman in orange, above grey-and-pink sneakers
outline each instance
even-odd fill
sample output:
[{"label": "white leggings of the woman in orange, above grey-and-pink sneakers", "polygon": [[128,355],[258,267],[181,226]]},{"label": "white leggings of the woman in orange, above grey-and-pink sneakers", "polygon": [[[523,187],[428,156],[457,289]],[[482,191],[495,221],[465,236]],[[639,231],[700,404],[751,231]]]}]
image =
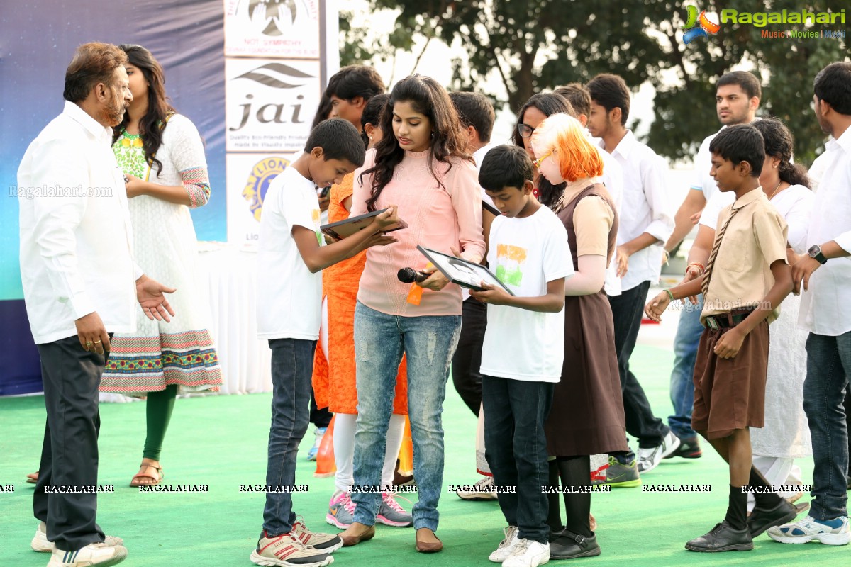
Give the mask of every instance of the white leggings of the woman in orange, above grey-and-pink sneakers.
[{"label": "white leggings of the woman in orange, above grey-and-pink sneakers", "polygon": [[[334,414],[334,461],[337,463],[337,473],[334,474],[334,486],[339,492],[346,492],[354,484],[355,456],[355,424],[357,413]],[[387,447],[384,453],[384,467],[381,468],[381,485],[393,484],[393,471],[396,470],[396,459],[402,446],[402,436],[405,433],[405,417],[394,413],[390,417],[387,428]]]}]

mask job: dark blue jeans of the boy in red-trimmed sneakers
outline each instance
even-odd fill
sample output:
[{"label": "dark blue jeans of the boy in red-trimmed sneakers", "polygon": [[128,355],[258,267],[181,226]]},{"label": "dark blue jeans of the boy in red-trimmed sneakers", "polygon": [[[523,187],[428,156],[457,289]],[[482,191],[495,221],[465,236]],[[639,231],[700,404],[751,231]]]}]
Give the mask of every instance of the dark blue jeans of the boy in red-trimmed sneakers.
[{"label": "dark blue jeans of the boy in red-trimmed sneakers", "polygon": [[[273,338],[271,348],[271,428],[266,486],[295,484],[295,458],[307,431],[311,404],[311,376],[316,341]],[[293,498],[288,491],[266,492],[263,529],[269,536],[292,530]]]}]

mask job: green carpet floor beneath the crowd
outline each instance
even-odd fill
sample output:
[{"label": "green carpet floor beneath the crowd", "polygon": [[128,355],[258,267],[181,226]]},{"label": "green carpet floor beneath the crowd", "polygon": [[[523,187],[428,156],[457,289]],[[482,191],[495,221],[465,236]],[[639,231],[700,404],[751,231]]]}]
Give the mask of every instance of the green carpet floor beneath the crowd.
[{"label": "green carpet floor beneath the crowd", "polygon": [[[657,416],[671,413],[669,349],[639,346],[632,369],[642,380]],[[446,434],[444,485],[477,479],[473,445],[476,419],[448,387],[443,428]],[[99,496],[98,519],[106,533],[123,537],[129,548],[126,565],[247,566],[262,524],[263,495],[241,493],[241,484],[263,484],[270,394],[178,400],[163,449],[165,481],[209,485],[208,493],[140,493],[128,486],[137,471],[144,441],[145,405],[101,405],[100,483],[115,492]],[[30,550],[36,528],[31,515],[32,485],[26,473],[37,469],[44,428],[40,396],[0,399],[0,566],[41,567],[46,553]],[[294,496],[296,513],[314,530],[335,529],[325,523],[333,479],[314,479],[315,463],[304,459],[312,428],[301,446],[296,482],[310,491]],[[727,505],[727,472],[722,460],[705,447],[698,460],[673,459],[647,473],[646,484],[711,484],[709,493],[651,493],[641,488],[595,494],[591,511],[599,524],[603,555],[573,563],[596,567],[624,565],[808,565],[848,558],[848,548],[811,543],[781,545],[760,536],[752,552],[691,553],[683,544],[720,521]],[[707,451],[708,449],[708,451]],[[812,460],[801,462],[811,479]],[[416,498],[416,495],[408,495]],[[409,509],[407,502],[403,502]],[[490,565],[488,553],[502,538],[504,520],[494,502],[462,502],[444,493],[437,534],[444,551],[414,552],[414,530],[380,525],[374,540],[334,553],[335,564],[370,567],[418,565]]]}]

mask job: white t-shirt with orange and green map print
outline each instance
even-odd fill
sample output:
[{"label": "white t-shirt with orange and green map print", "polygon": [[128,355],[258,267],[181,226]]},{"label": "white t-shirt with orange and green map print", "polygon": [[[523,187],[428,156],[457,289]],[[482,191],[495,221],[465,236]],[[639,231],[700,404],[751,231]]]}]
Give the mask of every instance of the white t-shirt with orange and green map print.
[{"label": "white t-shirt with orange and green map print", "polygon": [[[490,270],[517,297],[546,294],[548,281],[574,275],[568,232],[547,207],[529,217],[497,217],[490,227]],[[540,313],[488,304],[482,374],[558,382],[564,360],[564,309]]]}]

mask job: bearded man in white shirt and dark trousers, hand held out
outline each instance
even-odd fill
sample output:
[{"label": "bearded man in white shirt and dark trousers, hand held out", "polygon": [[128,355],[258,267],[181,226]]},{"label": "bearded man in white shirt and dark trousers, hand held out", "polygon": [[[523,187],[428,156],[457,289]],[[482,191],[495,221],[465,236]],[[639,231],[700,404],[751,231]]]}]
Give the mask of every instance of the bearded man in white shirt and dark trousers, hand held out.
[{"label": "bearded man in white shirt and dark trousers, hand held out", "polygon": [[31,546],[52,553],[49,567],[113,565],[127,556],[123,541],[95,523],[98,385],[111,333],[135,330],[136,300],[150,318],[174,315],[163,296],[174,289],[133,262],[123,173],[111,150],[111,127],[132,99],[126,63],[108,43],[77,48],[65,108],[18,169],[20,272],[48,416],[33,496],[41,523]]}]

